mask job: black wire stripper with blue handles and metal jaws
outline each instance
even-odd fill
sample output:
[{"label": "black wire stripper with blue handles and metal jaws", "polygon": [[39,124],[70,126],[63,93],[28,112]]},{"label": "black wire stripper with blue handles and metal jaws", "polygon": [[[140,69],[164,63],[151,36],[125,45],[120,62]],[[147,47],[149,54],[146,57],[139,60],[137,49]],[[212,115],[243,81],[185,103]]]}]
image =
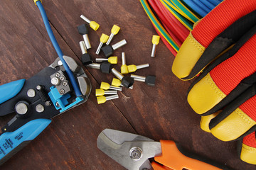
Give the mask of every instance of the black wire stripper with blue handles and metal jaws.
[{"label": "black wire stripper with blue handles and metal jaws", "polygon": [[0,165],[38,136],[51,118],[87,101],[90,81],[73,58],[63,56],[78,81],[81,96],[76,96],[59,58],[30,79],[0,86],[0,115],[14,114],[1,128]]}]

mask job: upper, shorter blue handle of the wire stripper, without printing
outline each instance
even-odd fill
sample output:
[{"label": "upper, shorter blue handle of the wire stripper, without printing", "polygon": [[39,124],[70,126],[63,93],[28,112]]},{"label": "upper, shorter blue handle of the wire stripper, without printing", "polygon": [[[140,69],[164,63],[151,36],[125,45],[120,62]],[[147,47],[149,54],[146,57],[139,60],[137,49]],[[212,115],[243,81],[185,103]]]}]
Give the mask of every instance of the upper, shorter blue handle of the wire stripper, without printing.
[{"label": "upper, shorter blue handle of the wire stripper, without printing", "polygon": [[26,79],[12,81],[0,86],[0,104],[16,96],[22,89]]}]

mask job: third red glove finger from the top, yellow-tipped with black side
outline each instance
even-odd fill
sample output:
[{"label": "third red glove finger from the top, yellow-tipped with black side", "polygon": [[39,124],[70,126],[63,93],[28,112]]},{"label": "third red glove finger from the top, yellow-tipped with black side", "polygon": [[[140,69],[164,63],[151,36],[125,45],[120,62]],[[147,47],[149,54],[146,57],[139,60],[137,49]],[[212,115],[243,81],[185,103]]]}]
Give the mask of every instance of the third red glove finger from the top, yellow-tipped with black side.
[{"label": "third red glove finger from the top, yellow-tipped with black side", "polygon": [[210,132],[220,140],[237,140],[256,128],[256,86],[251,86],[210,120]]}]

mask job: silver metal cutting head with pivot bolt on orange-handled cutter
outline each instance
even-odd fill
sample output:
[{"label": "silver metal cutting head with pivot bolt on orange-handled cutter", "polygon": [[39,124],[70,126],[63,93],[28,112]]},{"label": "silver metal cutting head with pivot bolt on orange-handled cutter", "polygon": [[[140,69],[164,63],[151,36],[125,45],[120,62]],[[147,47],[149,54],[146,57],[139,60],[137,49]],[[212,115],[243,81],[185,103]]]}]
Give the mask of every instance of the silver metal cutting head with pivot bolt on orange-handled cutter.
[{"label": "silver metal cutting head with pivot bolt on orange-handled cutter", "polygon": [[97,138],[97,147],[126,169],[152,169],[149,158],[161,154],[160,142],[141,135],[105,129]]}]

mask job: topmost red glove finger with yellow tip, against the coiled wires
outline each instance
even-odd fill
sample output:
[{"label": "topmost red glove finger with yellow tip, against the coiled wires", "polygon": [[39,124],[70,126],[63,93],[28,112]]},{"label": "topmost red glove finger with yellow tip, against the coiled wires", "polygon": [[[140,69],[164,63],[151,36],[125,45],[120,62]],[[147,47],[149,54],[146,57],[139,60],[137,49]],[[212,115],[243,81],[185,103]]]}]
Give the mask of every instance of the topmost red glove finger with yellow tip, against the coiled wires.
[{"label": "topmost red glove finger with yellow tip, against the coiled wires", "polygon": [[[196,76],[196,74],[198,74],[198,72],[200,72],[203,67],[206,67],[206,65],[209,63],[209,61],[205,61],[204,63],[206,64],[202,64],[201,67],[196,70],[196,73],[193,73],[193,75],[191,74],[193,67],[195,66],[196,62],[198,62],[198,60],[201,58],[203,52],[205,52],[206,47],[210,45],[210,42],[213,42],[213,40],[218,35],[220,35],[223,30],[228,28],[236,20],[238,20],[242,16],[245,16],[247,13],[254,11],[255,6],[256,1],[245,2],[238,0],[226,0],[223,1],[223,3],[221,3],[219,6],[214,8],[213,11],[208,13],[208,15],[203,18],[202,21],[200,21],[191,31],[185,42],[183,42],[183,45],[181,46],[172,67],[172,71],[174,72],[174,74],[176,74],[178,78],[184,80],[191,79]],[[225,15],[223,15],[224,11]],[[240,32],[242,34],[242,31]],[[233,40],[219,38],[218,40],[215,40],[214,44],[221,44],[220,42],[224,43],[224,45],[226,44],[226,46],[229,46],[230,44],[232,44]],[[215,47],[215,45],[212,45],[212,50],[210,51],[215,52],[215,48],[217,48],[217,50],[220,52],[223,51],[223,45],[220,45],[220,47]],[[223,48],[225,49],[225,47]],[[217,52],[217,50],[215,53],[219,53]],[[215,58],[216,56],[217,55],[214,54],[213,58]],[[213,59],[209,60],[211,62]]]}]

